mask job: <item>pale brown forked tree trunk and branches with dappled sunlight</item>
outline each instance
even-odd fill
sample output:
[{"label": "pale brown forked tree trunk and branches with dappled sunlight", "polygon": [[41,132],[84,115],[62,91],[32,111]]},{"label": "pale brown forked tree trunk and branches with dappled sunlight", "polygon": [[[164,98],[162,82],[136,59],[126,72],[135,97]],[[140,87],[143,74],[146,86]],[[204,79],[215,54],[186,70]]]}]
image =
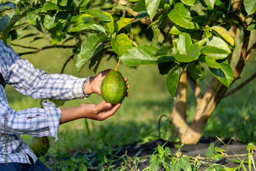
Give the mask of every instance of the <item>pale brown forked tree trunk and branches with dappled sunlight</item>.
[{"label": "pale brown forked tree trunk and branches with dappled sunlight", "polygon": [[[241,0],[234,1],[233,9],[240,7],[241,4],[242,4]],[[236,31],[237,31],[236,27],[233,26],[229,30],[229,33],[233,37],[236,37]],[[250,37],[250,32],[245,31],[240,59],[237,63],[236,68],[234,68],[233,70],[234,72],[233,82],[236,79],[238,79],[243,68],[245,67],[247,60],[250,58],[252,53],[255,52],[255,47],[256,47],[255,44],[247,52],[249,37]],[[232,54],[230,54],[227,57],[229,62],[231,60],[231,56]],[[223,84],[221,84],[221,82],[216,77],[212,77],[211,81],[209,82],[208,88],[203,96],[201,94],[199,84],[188,76],[191,87],[194,90],[195,97],[197,99],[197,110],[196,110],[194,121],[191,125],[188,125],[186,123],[186,99],[184,99],[186,98],[186,90],[187,90],[186,80],[185,80],[186,77],[187,77],[186,72],[183,72],[181,81],[178,87],[179,104],[177,104],[174,101],[172,119],[173,119],[173,124],[178,130],[178,136],[181,142],[184,142],[186,144],[191,144],[191,143],[198,143],[198,141],[200,140],[208,118],[214,112],[217,105],[219,104],[221,99],[224,97],[228,88],[225,87]]]}]

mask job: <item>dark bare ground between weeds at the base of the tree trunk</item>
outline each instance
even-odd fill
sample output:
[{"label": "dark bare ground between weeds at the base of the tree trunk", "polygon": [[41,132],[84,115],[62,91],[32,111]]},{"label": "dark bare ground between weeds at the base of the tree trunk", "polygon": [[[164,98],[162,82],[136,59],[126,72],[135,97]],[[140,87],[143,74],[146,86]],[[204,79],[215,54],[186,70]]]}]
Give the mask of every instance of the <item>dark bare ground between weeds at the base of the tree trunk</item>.
[{"label": "dark bare ground between weeds at the base of the tree trunk", "polygon": [[[210,143],[214,141],[215,141],[214,139],[207,138],[207,139],[201,139],[200,142],[197,144],[184,144],[181,148],[181,154],[186,156],[192,156],[192,157],[198,157],[198,156],[205,157],[205,153],[208,151],[208,147]],[[127,155],[131,157],[136,155],[139,152],[140,152],[140,154],[138,155],[139,157],[152,155],[156,147],[158,146],[158,144],[161,145],[161,144],[164,144],[165,142],[166,141],[164,140],[158,139],[155,141],[147,142],[142,145],[130,145],[124,148],[122,152],[119,153],[119,155],[124,154],[125,151],[127,151]],[[223,142],[227,144],[228,140],[223,140]],[[178,148],[175,147],[175,144],[172,142],[167,142],[165,146],[168,146],[172,153],[175,153],[178,151]],[[222,142],[216,141],[215,147],[224,149],[225,157],[221,158],[219,161],[209,160],[210,163],[217,163],[217,164],[224,165],[226,167],[231,167],[231,168],[240,167],[239,163],[236,163],[230,160],[230,159],[239,160],[237,156],[234,156],[234,154],[230,151],[230,149],[235,154],[242,155],[242,156],[239,156],[241,160],[244,159],[245,161],[248,161],[248,152],[246,151],[247,144],[231,141],[228,144],[228,147],[230,149],[228,149]],[[256,161],[256,155],[253,156],[253,159],[254,161]],[[140,170],[142,170],[143,168],[146,168],[147,166],[150,165],[149,161],[150,161],[149,158],[147,158],[146,160],[143,160],[143,162],[139,164],[138,168],[140,168]],[[118,163],[115,163],[115,164],[118,165]],[[247,170],[249,170],[248,164],[245,163],[245,167],[247,168]],[[253,168],[253,166],[251,166],[251,168]],[[202,164],[199,167],[199,170],[206,170],[206,169],[207,169],[207,166],[204,164]],[[243,170],[243,169],[241,168],[240,170]],[[254,170],[254,169],[251,169],[251,170]]]}]

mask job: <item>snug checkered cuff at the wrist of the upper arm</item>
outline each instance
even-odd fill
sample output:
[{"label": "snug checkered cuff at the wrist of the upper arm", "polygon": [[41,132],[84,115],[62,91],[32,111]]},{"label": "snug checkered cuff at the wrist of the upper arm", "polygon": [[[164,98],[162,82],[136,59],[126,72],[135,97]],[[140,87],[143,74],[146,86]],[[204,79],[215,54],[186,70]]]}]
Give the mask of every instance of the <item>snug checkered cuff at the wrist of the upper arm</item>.
[{"label": "snug checkered cuff at the wrist of the upper arm", "polygon": [[[91,76],[92,77],[92,76]],[[87,81],[91,78],[91,77],[87,77],[87,78],[79,78],[77,80],[75,80],[74,84],[73,84],[73,90],[75,94],[79,95],[79,98],[81,99],[86,99],[90,96],[90,94],[86,94],[84,92],[84,86],[86,86]]]}]

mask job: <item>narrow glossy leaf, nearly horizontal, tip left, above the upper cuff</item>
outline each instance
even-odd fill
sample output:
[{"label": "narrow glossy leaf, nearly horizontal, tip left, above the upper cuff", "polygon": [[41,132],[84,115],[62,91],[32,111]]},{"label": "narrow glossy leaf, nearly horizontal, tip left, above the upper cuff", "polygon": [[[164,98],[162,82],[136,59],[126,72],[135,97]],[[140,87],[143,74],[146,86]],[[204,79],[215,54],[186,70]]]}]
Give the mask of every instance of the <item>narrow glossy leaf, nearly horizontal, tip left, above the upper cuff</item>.
[{"label": "narrow glossy leaf, nearly horizontal, tip left, above the upper cuff", "polygon": [[105,33],[105,29],[96,24],[79,24],[78,26],[69,29],[68,32]]}]

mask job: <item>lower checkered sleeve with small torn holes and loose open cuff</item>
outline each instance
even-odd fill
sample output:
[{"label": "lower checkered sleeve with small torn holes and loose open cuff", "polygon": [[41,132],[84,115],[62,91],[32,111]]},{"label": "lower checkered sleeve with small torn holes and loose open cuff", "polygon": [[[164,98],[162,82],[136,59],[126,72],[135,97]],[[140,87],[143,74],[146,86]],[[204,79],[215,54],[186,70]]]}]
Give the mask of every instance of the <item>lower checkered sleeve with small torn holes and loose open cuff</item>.
[{"label": "lower checkered sleeve with small torn holes and loose open cuff", "polygon": [[[42,108],[25,110],[11,109],[7,99],[0,102],[0,132],[3,134],[28,134],[33,136],[52,136],[57,141],[61,111],[53,102],[44,100]],[[2,113],[3,112],[3,113]]]}]

